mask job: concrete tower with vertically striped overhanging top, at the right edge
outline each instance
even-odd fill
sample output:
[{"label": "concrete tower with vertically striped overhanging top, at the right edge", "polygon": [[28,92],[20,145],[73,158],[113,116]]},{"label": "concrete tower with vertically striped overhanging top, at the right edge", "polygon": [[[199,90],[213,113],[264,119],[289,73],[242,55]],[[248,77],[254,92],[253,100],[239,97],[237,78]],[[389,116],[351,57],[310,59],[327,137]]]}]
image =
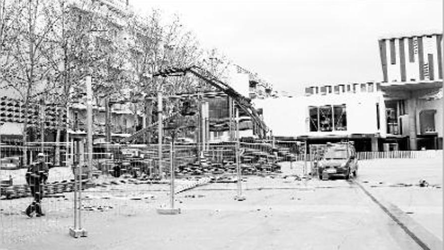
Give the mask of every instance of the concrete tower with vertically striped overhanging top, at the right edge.
[{"label": "concrete tower with vertically striped overhanging top, at the right edge", "polygon": [[387,132],[408,148],[442,148],[442,33],[379,39]]}]

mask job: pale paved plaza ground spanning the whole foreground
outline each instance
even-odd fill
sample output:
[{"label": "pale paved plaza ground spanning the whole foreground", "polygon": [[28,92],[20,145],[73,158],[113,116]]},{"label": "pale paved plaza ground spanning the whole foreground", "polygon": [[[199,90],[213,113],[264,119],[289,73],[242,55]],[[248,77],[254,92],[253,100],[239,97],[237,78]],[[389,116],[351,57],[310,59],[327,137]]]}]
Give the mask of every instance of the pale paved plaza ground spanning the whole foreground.
[{"label": "pale paved plaza ground spanning the whole foreground", "polygon": [[233,199],[236,183],[211,183],[178,194],[182,213],[171,216],[155,210],[167,184],[98,186],[83,193],[88,237],[77,239],[72,193],[45,198],[41,218],[20,214],[30,198],[2,200],[0,249],[421,249],[359,185],[442,245],[441,160],[361,161],[354,181],[299,180],[303,164],[284,163],[281,175],[244,178],[245,201]]}]

